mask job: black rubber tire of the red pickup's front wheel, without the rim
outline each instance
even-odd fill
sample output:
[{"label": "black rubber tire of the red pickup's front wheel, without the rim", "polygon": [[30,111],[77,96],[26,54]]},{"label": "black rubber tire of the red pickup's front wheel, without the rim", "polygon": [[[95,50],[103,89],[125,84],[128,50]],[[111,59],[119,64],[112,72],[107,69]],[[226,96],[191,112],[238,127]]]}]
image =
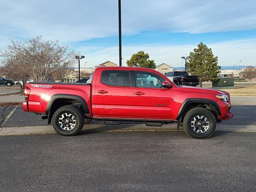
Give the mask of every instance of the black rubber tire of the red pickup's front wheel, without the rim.
[{"label": "black rubber tire of the red pickup's front wheel, without the rim", "polygon": [[[195,116],[205,116],[209,121],[209,128],[204,133],[197,133],[193,130],[191,122]],[[205,108],[196,107],[189,110],[183,119],[183,128],[186,134],[192,138],[206,139],[212,136],[216,129],[216,118],[214,115]]]}]

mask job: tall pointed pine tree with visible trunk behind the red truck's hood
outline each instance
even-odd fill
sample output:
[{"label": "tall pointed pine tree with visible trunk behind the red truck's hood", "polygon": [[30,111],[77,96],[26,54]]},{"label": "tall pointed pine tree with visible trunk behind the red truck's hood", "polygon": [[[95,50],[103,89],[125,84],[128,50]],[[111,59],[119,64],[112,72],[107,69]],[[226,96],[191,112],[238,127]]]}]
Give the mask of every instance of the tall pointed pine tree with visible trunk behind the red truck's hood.
[{"label": "tall pointed pine tree with visible trunk behind the red truck's hood", "polygon": [[199,85],[206,80],[216,80],[220,73],[218,65],[218,56],[213,55],[212,49],[200,42],[198,48],[194,48],[194,52],[190,52],[187,68],[191,75],[199,76]]}]

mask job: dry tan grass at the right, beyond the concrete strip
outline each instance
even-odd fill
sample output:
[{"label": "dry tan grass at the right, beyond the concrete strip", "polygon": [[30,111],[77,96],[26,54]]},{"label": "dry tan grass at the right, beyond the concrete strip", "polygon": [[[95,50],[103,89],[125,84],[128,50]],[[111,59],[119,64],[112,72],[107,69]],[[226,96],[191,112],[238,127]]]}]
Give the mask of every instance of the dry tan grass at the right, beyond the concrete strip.
[{"label": "dry tan grass at the right, beyond the concrete strip", "polygon": [[[205,83],[204,83],[205,84]],[[203,88],[211,88],[212,86],[207,83],[203,84]],[[229,92],[231,96],[256,96],[256,83],[251,82],[235,82],[234,89],[221,89]]]}]

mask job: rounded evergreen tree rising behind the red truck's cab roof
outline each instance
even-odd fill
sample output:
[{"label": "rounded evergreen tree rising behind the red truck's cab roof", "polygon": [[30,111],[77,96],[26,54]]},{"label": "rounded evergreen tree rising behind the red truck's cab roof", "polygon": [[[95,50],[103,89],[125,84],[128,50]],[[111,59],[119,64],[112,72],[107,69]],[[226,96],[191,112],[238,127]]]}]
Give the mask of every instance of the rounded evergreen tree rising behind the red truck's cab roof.
[{"label": "rounded evergreen tree rising behind the red truck's cab roof", "polygon": [[149,60],[148,53],[144,53],[144,51],[139,51],[136,54],[132,54],[132,57],[130,60],[127,60],[127,66],[129,67],[144,67],[144,68],[150,68],[155,69],[156,64],[154,60]]}]

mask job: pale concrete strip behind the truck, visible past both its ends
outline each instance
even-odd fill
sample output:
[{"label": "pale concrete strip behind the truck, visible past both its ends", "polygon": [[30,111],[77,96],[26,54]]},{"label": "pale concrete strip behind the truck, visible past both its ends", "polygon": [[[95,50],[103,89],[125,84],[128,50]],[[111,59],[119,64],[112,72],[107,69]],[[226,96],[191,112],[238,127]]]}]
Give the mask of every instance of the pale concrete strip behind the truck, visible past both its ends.
[{"label": "pale concrete strip behind the truck, visible past both its ends", "polygon": [[[0,96],[0,103],[22,102],[24,96]],[[232,105],[256,105],[256,96],[231,96]]]}]

